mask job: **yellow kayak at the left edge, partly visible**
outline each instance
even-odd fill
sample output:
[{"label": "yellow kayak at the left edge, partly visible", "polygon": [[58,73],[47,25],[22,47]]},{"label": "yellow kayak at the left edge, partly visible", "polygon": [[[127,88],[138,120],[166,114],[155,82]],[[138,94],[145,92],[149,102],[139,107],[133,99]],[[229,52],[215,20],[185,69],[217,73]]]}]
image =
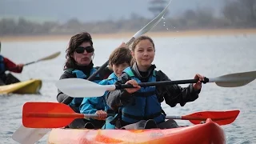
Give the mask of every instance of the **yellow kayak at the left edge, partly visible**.
[{"label": "yellow kayak at the left edge, partly visible", "polygon": [[42,87],[42,80],[30,79],[6,86],[0,86],[0,94],[38,94]]}]

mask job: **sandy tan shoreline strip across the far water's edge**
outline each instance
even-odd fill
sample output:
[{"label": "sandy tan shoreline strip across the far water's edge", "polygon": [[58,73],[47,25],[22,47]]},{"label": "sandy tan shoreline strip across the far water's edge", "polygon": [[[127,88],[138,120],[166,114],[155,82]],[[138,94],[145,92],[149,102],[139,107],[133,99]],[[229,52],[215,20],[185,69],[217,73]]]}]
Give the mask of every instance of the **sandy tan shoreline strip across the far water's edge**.
[{"label": "sandy tan shoreline strip across the far water's edge", "polygon": [[[131,38],[135,33],[117,34],[91,34],[93,39],[106,38]],[[210,35],[237,35],[256,34],[256,29],[216,29],[216,30],[184,30],[184,31],[161,31],[148,32],[150,37],[193,37]],[[69,41],[71,34],[66,35],[33,35],[33,36],[4,36],[0,37],[1,42],[34,42],[34,41]]]}]

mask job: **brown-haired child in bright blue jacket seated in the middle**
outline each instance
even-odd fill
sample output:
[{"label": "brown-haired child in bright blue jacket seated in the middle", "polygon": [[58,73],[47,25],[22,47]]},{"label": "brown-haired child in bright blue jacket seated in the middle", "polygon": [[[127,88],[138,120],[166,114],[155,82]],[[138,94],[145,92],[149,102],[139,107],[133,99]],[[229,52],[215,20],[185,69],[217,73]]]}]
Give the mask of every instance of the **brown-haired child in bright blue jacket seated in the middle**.
[{"label": "brown-haired child in bright blue jacket seated in the middle", "polygon": [[[130,66],[130,62],[132,59],[130,52],[131,51],[128,49],[128,47],[126,47],[124,43],[117,49],[115,49],[112,54],[110,54],[109,58],[110,69],[112,69],[114,72],[110,74],[109,78],[102,80],[98,84],[113,85],[114,82],[117,82],[118,77],[122,75],[122,71],[125,70],[126,67]],[[114,125],[111,125],[109,123],[114,117],[109,116],[107,118],[107,114],[114,115],[115,112],[106,105],[105,94],[102,97],[83,98],[82,104],[80,106],[80,113],[98,114],[98,118],[88,119],[85,128],[114,129]]]}]

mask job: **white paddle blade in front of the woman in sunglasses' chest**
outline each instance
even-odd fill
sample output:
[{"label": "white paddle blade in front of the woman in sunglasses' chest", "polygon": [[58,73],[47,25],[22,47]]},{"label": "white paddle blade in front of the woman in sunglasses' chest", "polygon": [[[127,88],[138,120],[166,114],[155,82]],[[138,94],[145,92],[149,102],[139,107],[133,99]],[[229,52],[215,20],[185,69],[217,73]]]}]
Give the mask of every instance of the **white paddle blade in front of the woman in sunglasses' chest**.
[{"label": "white paddle blade in front of the woman in sunglasses' chest", "polygon": [[98,85],[82,78],[66,78],[56,82],[58,90],[73,98],[102,97],[106,90],[115,90],[114,85]]}]

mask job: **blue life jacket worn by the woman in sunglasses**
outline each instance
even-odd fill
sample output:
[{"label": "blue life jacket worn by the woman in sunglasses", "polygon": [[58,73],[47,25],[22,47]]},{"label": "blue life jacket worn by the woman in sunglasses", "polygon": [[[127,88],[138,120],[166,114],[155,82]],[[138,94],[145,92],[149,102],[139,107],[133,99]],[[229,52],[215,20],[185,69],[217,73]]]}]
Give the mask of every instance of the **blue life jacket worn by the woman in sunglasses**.
[{"label": "blue life jacket worn by the woman in sunglasses", "polygon": [[[75,74],[77,78],[83,78],[83,79],[86,79],[88,78],[91,74],[94,74],[94,72],[96,71],[95,68],[92,68],[90,70],[90,75],[86,75],[82,72],[82,70],[74,70],[74,69],[68,69],[66,70],[67,72],[71,73],[71,74]],[[96,77],[94,78],[94,81],[95,83],[98,83],[100,82],[100,78],[99,78],[99,74],[96,75]],[[82,100],[83,98],[73,98],[72,102],[70,102],[70,106],[75,106],[75,107],[78,107],[78,110],[79,110],[79,106],[81,105],[82,103]]]}]

